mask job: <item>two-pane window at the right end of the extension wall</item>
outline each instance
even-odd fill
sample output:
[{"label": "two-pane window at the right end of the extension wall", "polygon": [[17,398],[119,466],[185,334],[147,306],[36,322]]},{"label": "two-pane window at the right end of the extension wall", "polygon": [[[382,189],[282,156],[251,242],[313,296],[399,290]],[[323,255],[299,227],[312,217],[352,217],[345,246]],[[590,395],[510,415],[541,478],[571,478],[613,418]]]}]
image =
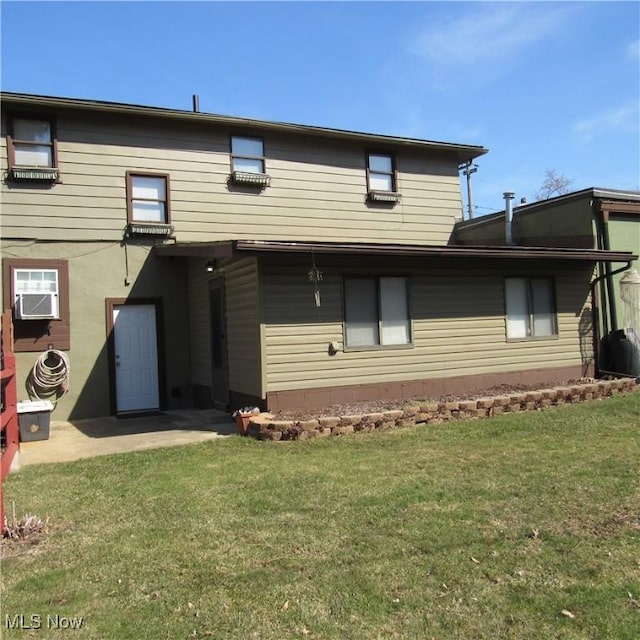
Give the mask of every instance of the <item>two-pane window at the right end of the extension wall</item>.
[{"label": "two-pane window at the right end of the extension wall", "polygon": [[555,293],[551,278],[506,278],[507,339],[558,335]]}]

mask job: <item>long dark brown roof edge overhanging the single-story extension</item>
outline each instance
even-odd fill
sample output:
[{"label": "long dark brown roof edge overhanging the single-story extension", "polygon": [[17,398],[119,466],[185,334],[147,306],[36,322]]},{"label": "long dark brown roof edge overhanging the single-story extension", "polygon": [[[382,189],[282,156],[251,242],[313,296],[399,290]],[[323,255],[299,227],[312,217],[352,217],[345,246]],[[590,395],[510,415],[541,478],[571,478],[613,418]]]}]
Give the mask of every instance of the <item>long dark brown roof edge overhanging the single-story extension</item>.
[{"label": "long dark brown roof edge overhanging the single-story extension", "polygon": [[160,256],[182,256],[191,258],[232,258],[249,255],[323,253],[368,256],[416,256],[419,258],[631,262],[638,257],[630,251],[603,251],[601,249],[468,245],[436,246],[363,242],[284,242],[280,240],[176,242],[175,244],[156,246],[154,250]]}]

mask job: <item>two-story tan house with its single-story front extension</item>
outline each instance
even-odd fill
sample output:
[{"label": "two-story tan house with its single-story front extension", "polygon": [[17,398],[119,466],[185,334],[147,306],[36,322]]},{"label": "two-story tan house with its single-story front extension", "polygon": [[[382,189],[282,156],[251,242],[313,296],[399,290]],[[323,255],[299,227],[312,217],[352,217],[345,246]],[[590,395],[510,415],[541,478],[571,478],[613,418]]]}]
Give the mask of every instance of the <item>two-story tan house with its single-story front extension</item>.
[{"label": "two-story tan house with its single-story front extension", "polygon": [[[590,247],[449,244],[479,146],[4,93],[3,302],[57,419],[435,395],[592,368]],[[489,243],[487,243],[489,244]]]}]

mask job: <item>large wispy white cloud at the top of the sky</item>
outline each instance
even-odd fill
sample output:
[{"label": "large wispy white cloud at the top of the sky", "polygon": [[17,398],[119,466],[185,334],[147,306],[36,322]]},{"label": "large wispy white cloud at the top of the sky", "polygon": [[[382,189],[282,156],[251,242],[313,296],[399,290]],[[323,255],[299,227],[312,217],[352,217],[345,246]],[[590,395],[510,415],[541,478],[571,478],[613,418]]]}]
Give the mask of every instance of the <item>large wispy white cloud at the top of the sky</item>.
[{"label": "large wispy white cloud at the top of the sky", "polygon": [[478,3],[454,19],[435,21],[413,40],[409,51],[438,66],[506,63],[562,24],[567,5]]}]

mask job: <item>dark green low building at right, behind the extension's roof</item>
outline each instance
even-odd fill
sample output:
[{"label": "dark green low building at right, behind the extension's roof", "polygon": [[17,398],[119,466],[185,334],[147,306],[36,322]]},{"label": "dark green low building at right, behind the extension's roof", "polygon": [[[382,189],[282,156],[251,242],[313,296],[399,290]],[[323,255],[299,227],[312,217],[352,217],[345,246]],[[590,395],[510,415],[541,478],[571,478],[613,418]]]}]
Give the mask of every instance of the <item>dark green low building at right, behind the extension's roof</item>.
[{"label": "dark green low building at right, behind the extension's roof", "polygon": [[[508,208],[507,208],[508,211]],[[640,253],[640,192],[590,188],[516,207],[511,215],[514,245],[577,247]],[[505,211],[456,224],[459,245],[507,244]],[[596,340],[623,328],[620,279],[635,259],[598,264],[594,307]],[[637,331],[638,328],[635,327]]]}]

